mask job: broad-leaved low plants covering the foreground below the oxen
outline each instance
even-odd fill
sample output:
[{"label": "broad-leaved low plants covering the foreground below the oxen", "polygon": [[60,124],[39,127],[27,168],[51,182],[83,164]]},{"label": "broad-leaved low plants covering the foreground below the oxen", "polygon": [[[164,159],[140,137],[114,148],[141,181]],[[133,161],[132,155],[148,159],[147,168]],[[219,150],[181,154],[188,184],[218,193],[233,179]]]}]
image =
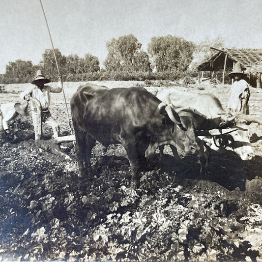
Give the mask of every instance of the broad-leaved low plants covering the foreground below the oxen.
[{"label": "broad-leaved low plants covering the foreground below the oxen", "polygon": [[[59,114],[64,117],[64,109]],[[27,122],[23,129],[32,126]],[[39,153],[31,139],[0,147],[1,260],[244,261],[250,256],[248,261],[256,261],[261,257],[260,242],[255,246],[251,238],[250,242],[243,238],[247,228],[250,234],[261,233],[262,220],[261,205],[252,204],[246,192],[229,191],[208,179],[183,177],[181,186],[181,168],[142,172],[141,186],[134,189],[128,162],[116,154],[123,148],[109,146],[114,149],[110,155],[99,146],[92,151],[94,175],[81,178],[76,161]],[[73,145],[68,147],[70,151]],[[182,168],[188,169],[184,164]]]}]

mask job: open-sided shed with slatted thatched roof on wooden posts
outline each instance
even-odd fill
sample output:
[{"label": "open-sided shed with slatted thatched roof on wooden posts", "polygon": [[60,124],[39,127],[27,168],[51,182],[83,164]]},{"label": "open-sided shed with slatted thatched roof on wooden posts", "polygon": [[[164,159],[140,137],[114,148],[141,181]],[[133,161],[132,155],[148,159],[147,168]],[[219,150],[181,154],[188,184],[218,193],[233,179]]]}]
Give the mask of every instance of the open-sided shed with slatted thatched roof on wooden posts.
[{"label": "open-sided shed with slatted thatched roof on wooden posts", "polygon": [[262,72],[262,49],[217,49],[213,47],[210,47],[210,49],[215,50],[216,53],[197,66],[196,70],[198,72],[210,71],[211,73],[223,69],[223,74],[225,74],[226,68],[233,70],[234,63],[239,62],[243,71],[249,69],[259,73],[260,78]]}]

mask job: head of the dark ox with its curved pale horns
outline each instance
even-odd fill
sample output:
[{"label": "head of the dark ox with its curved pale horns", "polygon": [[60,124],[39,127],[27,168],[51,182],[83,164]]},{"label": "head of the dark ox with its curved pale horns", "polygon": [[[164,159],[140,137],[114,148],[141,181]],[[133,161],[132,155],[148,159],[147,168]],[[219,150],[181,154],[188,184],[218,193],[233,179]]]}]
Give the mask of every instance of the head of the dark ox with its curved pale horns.
[{"label": "head of the dark ox with its curved pale horns", "polygon": [[193,112],[176,113],[171,105],[160,103],[158,111],[165,116],[163,121],[172,121],[172,139],[174,146],[181,148],[188,154],[198,154],[200,147],[196,140],[197,121]]}]

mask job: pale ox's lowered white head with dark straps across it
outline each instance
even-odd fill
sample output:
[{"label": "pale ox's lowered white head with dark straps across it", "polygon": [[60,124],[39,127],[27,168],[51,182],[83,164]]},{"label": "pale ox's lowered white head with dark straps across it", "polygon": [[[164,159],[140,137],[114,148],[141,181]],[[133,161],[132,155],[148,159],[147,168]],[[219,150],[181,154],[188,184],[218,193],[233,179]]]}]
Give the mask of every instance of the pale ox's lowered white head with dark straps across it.
[{"label": "pale ox's lowered white head with dark straps across it", "polygon": [[213,136],[209,140],[209,147],[218,151],[220,147],[235,152],[242,160],[251,160],[254,150],[250,143],[250,131],[244,127],[213,129],[208,131]]}]

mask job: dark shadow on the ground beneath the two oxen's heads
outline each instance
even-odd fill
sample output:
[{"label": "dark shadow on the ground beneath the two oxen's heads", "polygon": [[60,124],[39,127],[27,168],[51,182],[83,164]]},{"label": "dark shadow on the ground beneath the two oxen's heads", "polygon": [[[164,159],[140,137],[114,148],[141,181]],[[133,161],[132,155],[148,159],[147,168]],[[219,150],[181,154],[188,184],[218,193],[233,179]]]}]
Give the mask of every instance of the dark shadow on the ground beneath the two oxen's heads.
[{"label": "dark shadow on the ground beneath the two oxen's heads", "polygon": [[[245,191],[247,180],[262,177],[262,157],[260,156],[250,161],[243,161],[237,156],[212,152],[204,177],[199,175],[200,165],[197,163],[196,156],[185,156],[180,159],[180,163],[175,163],[174,157],[166,154],[165,163],[159,166],[161,172],[175,173],[178,182],[186,178],[210,180],[230,191],[237,187]],[[248,187],[248,190],[251,188]]]}]

